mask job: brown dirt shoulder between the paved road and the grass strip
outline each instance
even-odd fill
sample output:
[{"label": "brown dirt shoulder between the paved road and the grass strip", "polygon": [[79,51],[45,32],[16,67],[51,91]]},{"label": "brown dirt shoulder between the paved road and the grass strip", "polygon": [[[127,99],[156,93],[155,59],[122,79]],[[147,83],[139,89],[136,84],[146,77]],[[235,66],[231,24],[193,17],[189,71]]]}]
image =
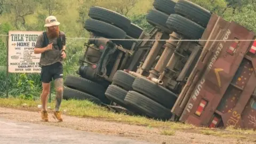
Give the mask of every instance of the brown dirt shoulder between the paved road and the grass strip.
[{"label": "brown dirt shoulder between the paved road and the grass strip", "polygon": [[[234,138],[221,138],[212,135],[175,131],[174,135],[162,135],[157,128],[129,125],[115,122],[99,121],[90,118],[78,118],[63,115],[64,122],[57,123],[52,117],[50,122],[41,122],[37,112],[23,111],[0,107],[0,117],[18,122],[28,122],[41,125],[67,127],[74,130],[97,132],[105,135],[126,137],[133,140],[142,140],[153,143],[254,143]],[[49,131],[50,132],[50,131]]]}]

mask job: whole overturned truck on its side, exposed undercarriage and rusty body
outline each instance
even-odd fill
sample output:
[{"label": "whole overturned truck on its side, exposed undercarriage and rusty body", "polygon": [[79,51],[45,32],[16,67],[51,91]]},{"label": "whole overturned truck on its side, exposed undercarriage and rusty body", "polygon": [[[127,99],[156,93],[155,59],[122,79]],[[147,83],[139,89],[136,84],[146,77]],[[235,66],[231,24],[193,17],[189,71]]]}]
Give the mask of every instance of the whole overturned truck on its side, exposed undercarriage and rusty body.
[{"label": "whole overturned truck on its side, exposed undercarriage and rusty body", "polygon": [[[167,11],[163,5],[171,7]],[[135,37],[129,45],[110,41],[133,39],[123,35],[125,22],[111,21],[120,27],[117,30],[87,20],[85,28],[91,31],[91,38],[100,39],[85,44],[77,73],[86,80],[74,84],[70,79],[65,85],[150,118],[256,129],[256,42],[239,41],[254,39],[255,34],[189,1],[156,0],[153,6],[147,21],[154,29],[148,34],[141,31],[136,38],[155,41],[138,42]],[[96,9],[92,7],[90,12]],[[92,24],[99,23],[105,27],[93,28]],[[194,39],[205,41],[190,41]],[[82,81],[94,87],[81,86]]]}]

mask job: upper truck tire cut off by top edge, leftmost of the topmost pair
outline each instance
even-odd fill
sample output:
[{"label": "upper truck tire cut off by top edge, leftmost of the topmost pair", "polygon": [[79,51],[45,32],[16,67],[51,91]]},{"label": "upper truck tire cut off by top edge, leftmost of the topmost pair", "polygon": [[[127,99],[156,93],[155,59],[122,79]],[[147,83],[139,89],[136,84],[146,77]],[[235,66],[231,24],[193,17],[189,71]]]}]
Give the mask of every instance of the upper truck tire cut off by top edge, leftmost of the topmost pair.
[{"label": "upper truck tire cut off by top edge, leftmost of the topmost pair", "polygon": [[175,13],[174,6],[176,2],[172,0],[155,0],[153,6],[156,10],[164,12],[168,15]]}]

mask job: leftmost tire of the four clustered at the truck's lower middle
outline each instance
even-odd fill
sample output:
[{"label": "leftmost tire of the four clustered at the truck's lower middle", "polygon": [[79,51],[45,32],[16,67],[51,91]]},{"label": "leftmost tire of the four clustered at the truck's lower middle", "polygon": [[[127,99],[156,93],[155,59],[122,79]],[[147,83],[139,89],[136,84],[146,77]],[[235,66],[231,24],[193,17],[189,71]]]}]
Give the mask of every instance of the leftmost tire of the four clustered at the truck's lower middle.
[{"label": "leftmost tire of the four clustered at the truck's lower middle", "polygon": [[126,94],[127,91],[116,85],[109,85],[105,92],[105,95],[109,100],[116,102],[118,105],[124,108],[127,106],[126,102],[124,101]]}]

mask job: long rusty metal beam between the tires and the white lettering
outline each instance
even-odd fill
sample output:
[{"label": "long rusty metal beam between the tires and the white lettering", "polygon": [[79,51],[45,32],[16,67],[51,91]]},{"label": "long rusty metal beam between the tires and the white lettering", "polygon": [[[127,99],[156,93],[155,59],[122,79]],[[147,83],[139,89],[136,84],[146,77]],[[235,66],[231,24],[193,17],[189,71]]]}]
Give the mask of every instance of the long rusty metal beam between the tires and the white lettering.
[{"label": "long rusty metal beam between the tires and the white lettering", "polygon": [[[223,35],[226,33],[226,29],[229,26],[229,22],[225,21],[224,19],[222,19],[221,17],[218,17],[215,14],[212,15],[212,18],[217,19],[217,20],[214,20],[214,21],[210,20],[208,25],[214,24],[214,27],[213,27],[213,30],[211,31],[211,33],[209,34],[208,38],[209,39],[223,39]],[[211,22],[215,22],[215,23],[211,23]],[[206,29],[206,30],[208,30],[208,29]],[[218,50],[219,45],[220,45],[220,42],[217,42],[217,41],[207,41],[205,43],[204,49],[196,63],[195,68],[192,70],[186,85],[182,89],[177,101],[174,104],[174,107],[171,110],[171,112],[173,114],[175,114],[177,116],[181,116],[182,112],[184,115],[186,114],[186,111],[184,109],[187,105],[190,95],[194,91],[194,89],[201,89],[200,88],[201,87],[200,78],[203,74],[203,70],[207,66],[207,63],[208,63],[208,66],[212,65],[211,61],[215,59],[213,56],[214,53],[219,53],[219,50]],[[217,50],[214,51],[215,49],[217,49]],[[209,71],[209,69],[206,69],[206,72],[207,71]]]}]

